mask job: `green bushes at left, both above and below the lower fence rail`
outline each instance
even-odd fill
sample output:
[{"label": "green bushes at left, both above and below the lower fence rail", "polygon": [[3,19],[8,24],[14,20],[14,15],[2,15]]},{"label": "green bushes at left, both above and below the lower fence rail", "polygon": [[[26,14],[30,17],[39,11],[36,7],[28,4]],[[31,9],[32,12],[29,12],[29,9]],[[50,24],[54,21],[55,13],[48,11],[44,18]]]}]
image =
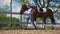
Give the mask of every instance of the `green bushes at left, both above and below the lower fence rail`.
[{"label": "green bushes at left, both above and below the lower fence rail", "polygon": [[[19,22],[19,19],[12,18],[13,22]],[[4,14],[0,14],[0,22],[11,22],[11,17],[6,17]],[[19,24],[0,24],[0,29],[18,29],[20,28]]]}]

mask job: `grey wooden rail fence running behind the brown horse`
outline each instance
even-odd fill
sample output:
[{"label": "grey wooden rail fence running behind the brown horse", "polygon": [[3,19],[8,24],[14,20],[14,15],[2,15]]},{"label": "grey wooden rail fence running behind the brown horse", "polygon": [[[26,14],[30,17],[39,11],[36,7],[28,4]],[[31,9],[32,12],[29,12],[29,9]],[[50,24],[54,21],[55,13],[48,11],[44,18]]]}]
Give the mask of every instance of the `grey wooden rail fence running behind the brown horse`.
[{"label": "grey wooden rail fence running behind the brown horse", "polygon": [[[22,15],[20,15],[20,13],[16,13],[16,12],[0,12],[0,14],[11,14],[11,22],[0,22],[0,24],[20,24],[21,28],[22,28],[22,24],[25,24],[25,22],[22,22]],[[12,14],[19,14],[20,15],[20,22],[13,22],[12,21]],[[31,24],[31,23],[29,23]],[[43,24],[43,23],[37,23],[37,24]],[[51,25],[51,23],[46,23],[47,25]],[[56,23],[56,25],[60,25],[60,23]]]}]

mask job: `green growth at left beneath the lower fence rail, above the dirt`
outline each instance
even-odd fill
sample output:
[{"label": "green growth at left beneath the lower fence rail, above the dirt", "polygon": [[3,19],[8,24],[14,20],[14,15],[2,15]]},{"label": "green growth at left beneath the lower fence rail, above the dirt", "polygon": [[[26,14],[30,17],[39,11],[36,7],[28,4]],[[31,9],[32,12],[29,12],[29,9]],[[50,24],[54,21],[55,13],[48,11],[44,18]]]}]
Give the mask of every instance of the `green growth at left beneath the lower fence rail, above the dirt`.
[{"label": "green growth at left beneath the lower fence rail, above the dirt", "polygon": [[9,30],[9,29],[20,29],[19,24],[0,24],[0,29],[1,30]]}]

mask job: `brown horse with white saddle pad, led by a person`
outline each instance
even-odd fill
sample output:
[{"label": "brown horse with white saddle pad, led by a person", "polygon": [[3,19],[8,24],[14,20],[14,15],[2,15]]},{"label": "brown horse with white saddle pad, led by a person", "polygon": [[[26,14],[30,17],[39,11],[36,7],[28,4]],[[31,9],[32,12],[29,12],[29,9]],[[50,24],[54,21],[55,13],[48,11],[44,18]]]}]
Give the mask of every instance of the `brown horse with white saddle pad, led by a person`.
[{"label": "brown horse with white saddle pad, led by a person", "polygon": [[[52,29],[54,29],[55,19],[54,19],[53,12],[51,9],[46,8],[46,12],[42,13],[38,11],[37,6],[30,6],[30,7],[34,9],[34,13],[33,13],[34,21],[36,21],[36,18],[42,18],[44,25],[46,25],[46,19],[47,17],[49,17],[51,19],[51,23],[53,24]],[[25,4],[23,4],[20,10],[20,14],[22,15],[26,10],[28,10],[28,8]],[[45,26],[44,26],[44,29],[45,29]]]}]

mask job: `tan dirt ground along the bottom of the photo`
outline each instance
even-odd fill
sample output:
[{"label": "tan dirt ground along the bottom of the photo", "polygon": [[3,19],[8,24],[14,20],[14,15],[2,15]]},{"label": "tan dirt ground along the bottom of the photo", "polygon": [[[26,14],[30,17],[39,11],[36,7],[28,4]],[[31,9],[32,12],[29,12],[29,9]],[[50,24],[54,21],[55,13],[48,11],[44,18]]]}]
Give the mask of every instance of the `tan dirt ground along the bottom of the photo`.
[{"label": "tan dirt ground along the bottom of the photo", "polygon": [[60,30],[0,30],[0,34],[60,34]]}]

